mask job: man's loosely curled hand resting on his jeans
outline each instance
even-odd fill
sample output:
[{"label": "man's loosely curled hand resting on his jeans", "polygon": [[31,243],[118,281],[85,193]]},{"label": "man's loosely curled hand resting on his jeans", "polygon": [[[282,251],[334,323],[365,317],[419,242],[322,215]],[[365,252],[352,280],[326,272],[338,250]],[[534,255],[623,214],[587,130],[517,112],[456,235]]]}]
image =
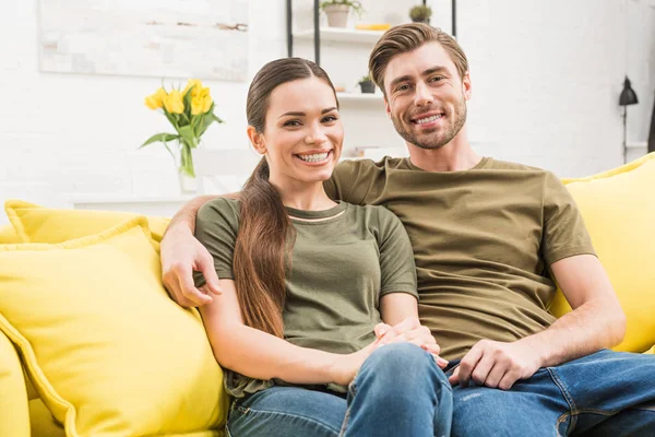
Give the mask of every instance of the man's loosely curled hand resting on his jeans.
[{"label": "man's loosely curled hand resting on his jeans", "polygon": [[509,390],[519,379],[533,376],[539,367],[538,354],[526,342],[480,340],[462,358],[449,381],[468,387],[473,379],[478,386]]}]

